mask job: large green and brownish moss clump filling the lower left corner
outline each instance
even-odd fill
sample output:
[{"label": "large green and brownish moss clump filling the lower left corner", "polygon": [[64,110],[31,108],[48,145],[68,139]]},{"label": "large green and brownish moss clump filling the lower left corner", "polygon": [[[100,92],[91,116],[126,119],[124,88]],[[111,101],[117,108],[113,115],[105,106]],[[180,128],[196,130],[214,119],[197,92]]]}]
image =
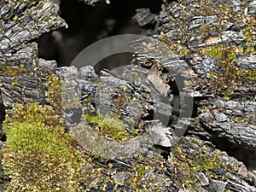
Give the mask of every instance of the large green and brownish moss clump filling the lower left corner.
[{"label": "large green and brownish moss clump filling the lower left corner", "polygon": [[16,105],[3,124],[7,136],[3,169],[11,178],[7,191],[81,191],[84,165],[71,137],[36,103]]}]

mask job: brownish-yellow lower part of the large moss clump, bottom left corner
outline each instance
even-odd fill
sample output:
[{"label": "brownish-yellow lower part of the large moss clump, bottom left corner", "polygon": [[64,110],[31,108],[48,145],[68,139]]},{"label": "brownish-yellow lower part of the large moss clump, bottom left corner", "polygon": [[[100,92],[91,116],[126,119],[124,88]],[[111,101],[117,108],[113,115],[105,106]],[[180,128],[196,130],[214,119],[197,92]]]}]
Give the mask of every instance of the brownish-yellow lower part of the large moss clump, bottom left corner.
[{"label": "brownish-yellow lower part of the large moss clump, bottom left corner", "polygon": [[7,191],[81,191],[75,167],[61,155],[56,159],[37,148],[7,150],[3,168],[11,178]]}]

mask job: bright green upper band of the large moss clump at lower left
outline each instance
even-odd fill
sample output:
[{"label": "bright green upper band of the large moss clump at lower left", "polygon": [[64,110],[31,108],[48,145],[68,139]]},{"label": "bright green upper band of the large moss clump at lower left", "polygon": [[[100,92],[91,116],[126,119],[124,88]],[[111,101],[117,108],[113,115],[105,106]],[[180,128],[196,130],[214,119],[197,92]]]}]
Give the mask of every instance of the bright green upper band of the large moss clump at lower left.
[{"label": "bright green upper band of the large moss clump at lower left", "polygon": [[33,122],[33,119],[23,123],[14,122],[6,134],[9,138],[6,147],[12,152],[38,148],[53,158],[58,154],[67,155],[68,145],[65,139],[60,137],[59,131],[61,130],[44,126],[44,123]]}]

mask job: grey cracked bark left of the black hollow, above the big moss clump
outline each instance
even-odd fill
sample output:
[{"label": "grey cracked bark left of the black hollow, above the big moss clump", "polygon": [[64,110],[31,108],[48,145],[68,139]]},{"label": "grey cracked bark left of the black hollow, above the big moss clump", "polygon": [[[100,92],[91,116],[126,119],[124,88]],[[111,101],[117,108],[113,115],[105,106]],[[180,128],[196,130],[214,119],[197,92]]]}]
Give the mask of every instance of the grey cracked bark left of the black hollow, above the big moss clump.
[{"label": "grey cracked bark left of the black hollow, above the big moss clump", "polygon": [[37,44],[28,44],[44,32],[67,27],[52,2],[2,2],[0,34],[1,95],[5,106],[15,102],[44,103],[46,78],[55,61],[38,58]]}]

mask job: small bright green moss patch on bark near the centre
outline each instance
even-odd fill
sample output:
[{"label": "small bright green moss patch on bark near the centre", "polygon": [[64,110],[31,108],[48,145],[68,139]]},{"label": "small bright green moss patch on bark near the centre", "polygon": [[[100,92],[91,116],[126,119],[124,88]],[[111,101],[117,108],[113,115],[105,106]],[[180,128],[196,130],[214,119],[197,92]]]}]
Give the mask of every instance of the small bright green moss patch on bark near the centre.
[{"label": "small bright green moss patch on bark near the centre", "polygon": [[120,119],[111,117],[108,114],[103,115],[97,112],[96,115],[91,115],[85,113],[84,118],[92,123],[92,126],[102,137],[110,137],[116,141],[124,142],[134,136],[133,133],[125,130],[125,125]]}]

